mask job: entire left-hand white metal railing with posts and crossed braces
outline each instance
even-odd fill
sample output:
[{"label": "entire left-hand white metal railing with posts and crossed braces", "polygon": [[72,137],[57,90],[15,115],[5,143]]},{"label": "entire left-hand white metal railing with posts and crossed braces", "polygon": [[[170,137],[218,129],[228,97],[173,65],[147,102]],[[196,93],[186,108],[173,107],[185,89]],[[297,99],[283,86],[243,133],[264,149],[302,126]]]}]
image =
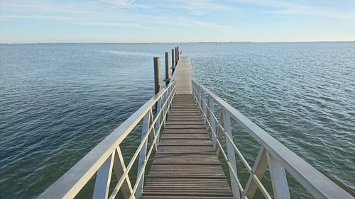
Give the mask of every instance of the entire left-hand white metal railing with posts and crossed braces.
[{"label": "entire left-hand white metal railing with posts and crossed braces", "polygon": [[[119,125],[38,198],[74,198],[95,174],[93,198],[115,198],[119,191],[123,193],[124,198],[141,198],[148,158],[158,147],[160,131],[165,125],[170,105],[175,97],[175,84],[175,81],[170,82],[165,89],[158,92],[136,113]],[[154,117],[153,106],[155,105],[157,109]],[[120,144],[141,120],[143,120],[141,143],[126,166]],[[148,137],[151,147],[147,152]],[[137,179],[132,188],[129,171],[137,157],[139,157]],[[112,171],[118,183],[109,193]]]}]

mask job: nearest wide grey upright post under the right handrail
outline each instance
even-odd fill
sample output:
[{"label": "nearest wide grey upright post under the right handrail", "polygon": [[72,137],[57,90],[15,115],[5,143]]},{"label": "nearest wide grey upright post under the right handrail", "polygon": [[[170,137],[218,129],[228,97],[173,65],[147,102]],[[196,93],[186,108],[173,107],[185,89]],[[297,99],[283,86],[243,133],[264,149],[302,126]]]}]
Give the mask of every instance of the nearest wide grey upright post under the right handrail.
[{"label": "nearest wide grey upright post under the right handrail", "polygon": [[285,168],[269,153],[266,153],[266,155],[268,157],[271,184],[273,185],[273,197],[275,199],[289,199],[290,191],[288,190]]}]

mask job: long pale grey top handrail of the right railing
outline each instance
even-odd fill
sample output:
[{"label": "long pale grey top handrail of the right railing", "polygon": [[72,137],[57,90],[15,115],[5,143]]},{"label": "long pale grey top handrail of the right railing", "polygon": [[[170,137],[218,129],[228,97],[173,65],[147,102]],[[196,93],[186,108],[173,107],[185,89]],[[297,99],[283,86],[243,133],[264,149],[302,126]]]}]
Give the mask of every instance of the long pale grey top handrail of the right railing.
[{"label": "long pale grey top handrail of the right railing", "polygon": [[202,84],[198,83],[196,80],[192,80],[192,84],[199,86],[204,93],[207,93],[215,102],[219,103],[219,105],[231,115],[231,118],[239,123],[244,130],[249,132],[249,135],[259,142],[272,157],[280,162],[280,164],[282,164],[307,191],[315,196],[315,198],[353,198],[336,183],[308,164],[307,161],[297,156],[297,154],[288,149],[288,147],[285,147],[285,145],[278,142],[278,140],[275,140],[275,138],[222,100],[222,98],[219,98],[219,96],[209,91],[209,89],[202,86]]}]

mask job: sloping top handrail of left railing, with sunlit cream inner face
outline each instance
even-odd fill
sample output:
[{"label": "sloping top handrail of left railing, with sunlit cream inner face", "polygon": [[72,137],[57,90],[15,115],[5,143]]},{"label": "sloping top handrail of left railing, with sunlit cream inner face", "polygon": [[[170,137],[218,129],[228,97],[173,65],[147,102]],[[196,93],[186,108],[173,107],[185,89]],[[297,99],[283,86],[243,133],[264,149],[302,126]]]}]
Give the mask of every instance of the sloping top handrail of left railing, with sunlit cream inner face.
[{"label": "sloping top handrail of left railing, with sunlit cream inner face", "polygon": [[[74,198],[81,188],[89,181],[100,166],[104,164],[112,152],[119,144],[129,135],[134,127],[145,117],[151,108],[157,103],[162,96],[169,91],[170,87],[175,85],[175,81],[171,81],[168,86],[159,91],[141,108],[136,110],[127,120],[119,127],[104,138],[94,149],[87,153],[80,161],[70,168],[63,176],[52,184],[38,198]],[[156,138],[155,138],[156,140]]]}]

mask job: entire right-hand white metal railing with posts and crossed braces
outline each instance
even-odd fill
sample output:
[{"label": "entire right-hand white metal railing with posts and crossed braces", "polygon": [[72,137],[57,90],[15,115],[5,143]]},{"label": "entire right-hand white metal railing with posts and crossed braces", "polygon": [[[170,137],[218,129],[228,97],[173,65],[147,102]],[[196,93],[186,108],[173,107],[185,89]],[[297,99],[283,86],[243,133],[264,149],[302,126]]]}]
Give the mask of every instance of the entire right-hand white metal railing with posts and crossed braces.
[{"label": "entire right-hand white metal railing with posts and crossed braces", "polygon": [[[261,183],[267,167],[270,171],[273,197],[290,198],[285,170],[290,173],[315,198],[353,198],[329,178],[317,171],[297,154],[268,135],[261,127],[251,122],[238,110],[192,79],[192,93],[200,108],[207,129],[212,132],[212,144],[217,154],[222,153],[229,167],[229,178],[234,198],[253,198],[259,188],[264,198],[271,198]],[[220,108],[219,118],[214,115],[214,107]],[[234,144],[231,122],[235,121],[260,144],[256,161],[251,167],[243,154]],[[222,147],[222,136],[225,137],[226,152]],[[249,171],[246,186],[241,186],[236,170],[236,155]]]}]

